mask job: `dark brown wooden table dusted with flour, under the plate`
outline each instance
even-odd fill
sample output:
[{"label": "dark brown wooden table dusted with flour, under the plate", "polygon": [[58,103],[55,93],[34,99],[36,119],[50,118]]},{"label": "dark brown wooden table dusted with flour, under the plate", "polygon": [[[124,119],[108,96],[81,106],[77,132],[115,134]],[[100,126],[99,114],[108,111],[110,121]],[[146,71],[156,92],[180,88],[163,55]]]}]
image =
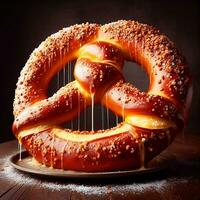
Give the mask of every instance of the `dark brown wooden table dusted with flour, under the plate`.
[{"label": "dark brown wooden table dusted with flour, under the plate", "polygon": [[113,180],[56,180],[24,174],[8,158],[17,142],[0,144],[0,199],[200,200],[200,135],[176,138],[167,152],[176,156],[162,172]]}]

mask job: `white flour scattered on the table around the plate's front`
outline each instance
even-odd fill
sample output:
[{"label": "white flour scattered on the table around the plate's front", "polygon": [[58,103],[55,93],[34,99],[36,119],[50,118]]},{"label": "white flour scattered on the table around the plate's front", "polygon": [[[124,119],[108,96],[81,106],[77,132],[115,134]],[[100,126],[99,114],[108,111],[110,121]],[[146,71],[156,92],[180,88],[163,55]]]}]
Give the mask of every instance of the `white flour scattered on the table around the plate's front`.
[{"label": "white flour scattered on the table around the plate's front", "polygon": [[[73,192],[78,192],[87,195],[103,195],[108,192],[108,186],[111,186],[112,192],[116,194],[125,194],[127,192],[131,193],[143,193],[147,190],[155,190],[157,192],[161,192],[164,190],[169,182],[169,180],[153,180],[146,183],[124,183],[124,184],[92,184],[92,183],[69,183],[67,180],[66,182],[51,182],[49,179],[38,179],[37,177],[34,178],[33,176],[29,176],[28,174],[24,174],[19,172],[18,170],[14,169],[12,166],[9,165],[8,157],[4,159],[0,159],[0,164],[2,165],[2,171],[0,173],[0,179],[4,178],[8,181],[25,184],[25,185],[34,185],[37,187],[47,188],[50,190],[63,190],[67,189]],[[175,182],[177,180],[174,180]],[[180,182],[180,179],[178,179]],[[71,181],[73,182],[73,181]]]}]

